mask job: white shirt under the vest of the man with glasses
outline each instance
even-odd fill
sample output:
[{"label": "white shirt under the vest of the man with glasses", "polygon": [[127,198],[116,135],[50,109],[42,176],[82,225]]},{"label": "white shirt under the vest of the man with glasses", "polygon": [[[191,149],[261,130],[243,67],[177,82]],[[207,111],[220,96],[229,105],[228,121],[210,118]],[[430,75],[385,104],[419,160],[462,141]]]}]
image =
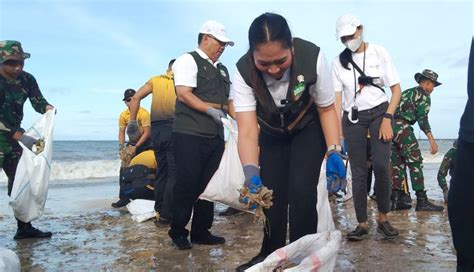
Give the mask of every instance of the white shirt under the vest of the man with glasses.
[{"label": "white shirt under the vest of the man with glasses", "polygon": [[[212,60],[201,49],[197,48],[196,52],[203,59],[208,60],[214,67],[217,67],[217,64],[219,64],[219,61],[212,62]],[[186,53],[177,58],[172,69],[174,73],[175,86],[197,87],[198,67],[191,54]]]}]

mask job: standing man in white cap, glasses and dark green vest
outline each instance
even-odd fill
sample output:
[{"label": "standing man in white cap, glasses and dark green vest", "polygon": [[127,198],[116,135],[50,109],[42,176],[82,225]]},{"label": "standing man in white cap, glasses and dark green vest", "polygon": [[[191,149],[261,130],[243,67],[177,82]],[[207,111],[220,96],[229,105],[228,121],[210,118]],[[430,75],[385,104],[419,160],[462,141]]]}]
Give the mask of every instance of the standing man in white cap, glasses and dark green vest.
[{"label": "standing man in white cap, glasses and dark green vest", "polygon": [[209,231],[214,204],[198,197],[219,167],[224,152],[221,118],[225,118],[228,110],[230,80],[219,57],[234,42],[227,37],[221,23],[207,21],[200,28],[198,45],[173,65],[177,96],[173,124],[176,184],[168,234],[180,250],[191,248],[186,229],[191,213],[191,242],[206,245],[225,242],[223,237]]}]

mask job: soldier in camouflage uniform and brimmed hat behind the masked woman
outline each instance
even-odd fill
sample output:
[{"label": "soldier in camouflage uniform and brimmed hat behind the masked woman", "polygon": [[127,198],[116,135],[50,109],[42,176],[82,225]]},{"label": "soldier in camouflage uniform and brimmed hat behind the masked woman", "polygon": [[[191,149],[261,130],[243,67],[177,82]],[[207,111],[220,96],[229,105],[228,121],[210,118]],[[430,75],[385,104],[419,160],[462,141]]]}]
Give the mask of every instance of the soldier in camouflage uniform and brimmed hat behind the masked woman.
[{"label": "soldier in camouflage uniform and brimmed hat behind the masked woman", "polygon": [[392,142],[392,210],[411,208],[403,192],[403,182],[406,180],[406,168],[410,170],[412,188],[416,192],[416,211],[442,211],[444,207],[431,203],[425,191],[423,178],[423,157],[413,133],[413,125],[418,122],[420,129],[426,134],[431,146],[431,154],[438,152],[438,145],[431,133],[428,113],[431,106],[430,94],[434,87],[441,85],[438,74],[425,69],[415,74],[417,87],[402,93],[400,104],[395,112]]}]

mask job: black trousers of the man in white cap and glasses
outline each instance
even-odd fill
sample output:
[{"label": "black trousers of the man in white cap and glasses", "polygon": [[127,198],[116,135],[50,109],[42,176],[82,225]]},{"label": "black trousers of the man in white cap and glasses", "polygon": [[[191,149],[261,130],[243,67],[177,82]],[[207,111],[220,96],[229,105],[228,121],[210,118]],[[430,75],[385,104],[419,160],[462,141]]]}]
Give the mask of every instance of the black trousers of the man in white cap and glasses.
[{"label": "black trousers of the man in white cap and glasses", "polygon": [[[214,203],[198,199],[204,191],[224,153],[219,136],[205,138],[173,133],[176,159],[173,217],[168,234],[172,239],[187,237],[191,213],[191,239],[207,236],[214,219]],[[199,238],[198,238],[199,237]]]}]

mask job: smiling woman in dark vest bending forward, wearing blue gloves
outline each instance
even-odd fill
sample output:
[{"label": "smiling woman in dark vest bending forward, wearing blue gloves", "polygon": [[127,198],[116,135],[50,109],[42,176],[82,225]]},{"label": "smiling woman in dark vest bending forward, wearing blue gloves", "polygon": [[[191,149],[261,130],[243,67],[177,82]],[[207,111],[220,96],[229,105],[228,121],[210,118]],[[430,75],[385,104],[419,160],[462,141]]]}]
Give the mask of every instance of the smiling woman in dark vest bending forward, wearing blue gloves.
[{"label": "smiling woman in dark vest bending forward, wearing blue gloves", "polygon": [[345,178],[331,74],[319,47],[293,38],[285,18],[274,13],[253,21],[249,44],[231,91],[239,155],[246,186],[263,183],[274,198],[265,210],[260,253],[237,271],[285,246],[288,218],[290,242],[316,233],[317,184],[327,149],[329,178]]}]

